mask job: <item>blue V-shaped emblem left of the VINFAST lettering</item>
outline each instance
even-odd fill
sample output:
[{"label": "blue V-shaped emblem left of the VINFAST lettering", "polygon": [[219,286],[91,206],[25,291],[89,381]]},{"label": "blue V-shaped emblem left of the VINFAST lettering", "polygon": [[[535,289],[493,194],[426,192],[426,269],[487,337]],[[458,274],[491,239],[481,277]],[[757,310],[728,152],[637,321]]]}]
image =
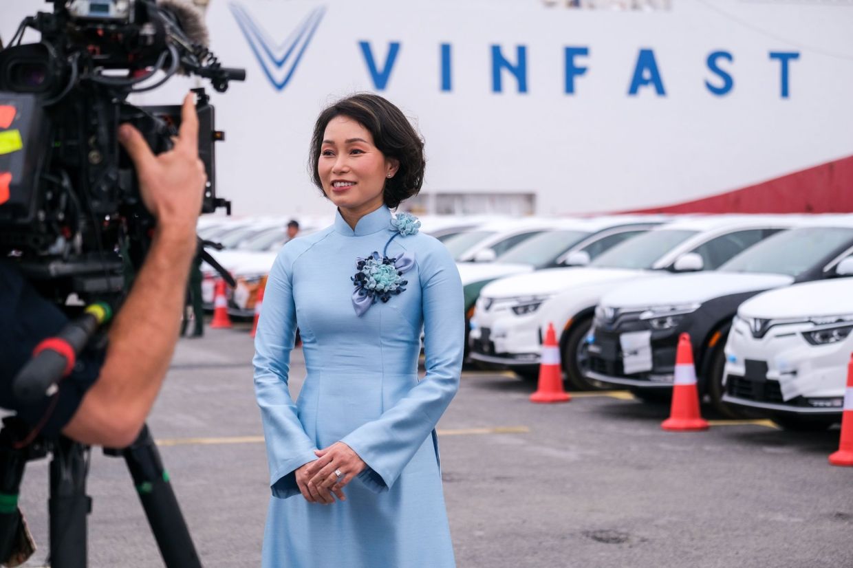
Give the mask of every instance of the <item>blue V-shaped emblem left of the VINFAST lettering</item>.
[{"label": "blue V-shaped emblem left of the VINFAST lettering", "polygon": [[326,8],[321,6],[312,10],[283,42],[278,43],[278,39],[271,38],[241,4],[231,3],[229,7],[264,74],[276,90],[283,90],[293,78]]}]

